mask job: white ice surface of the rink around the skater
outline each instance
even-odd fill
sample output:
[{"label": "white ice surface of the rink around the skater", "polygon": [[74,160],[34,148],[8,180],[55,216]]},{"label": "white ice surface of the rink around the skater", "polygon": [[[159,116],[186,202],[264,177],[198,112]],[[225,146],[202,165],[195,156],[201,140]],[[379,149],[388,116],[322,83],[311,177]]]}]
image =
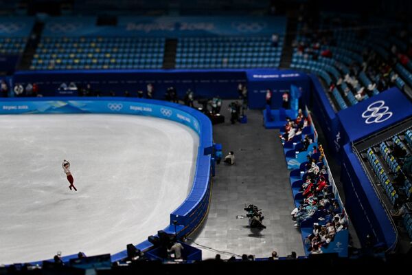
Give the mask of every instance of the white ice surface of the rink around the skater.
[{"label": "white ice surface of the rink around the skater", "polygon": [[199,142],[135,115],[1,115],[0,133],[0,264],[114,254],[156,234],[187,197]]}]

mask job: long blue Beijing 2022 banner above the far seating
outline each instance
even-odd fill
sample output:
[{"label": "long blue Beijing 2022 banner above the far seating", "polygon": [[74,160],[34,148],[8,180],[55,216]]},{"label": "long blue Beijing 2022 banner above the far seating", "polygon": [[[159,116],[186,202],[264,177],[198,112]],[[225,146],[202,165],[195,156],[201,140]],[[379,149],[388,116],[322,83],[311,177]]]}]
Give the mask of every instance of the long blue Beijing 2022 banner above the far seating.
[{"label": "long blue Beijing 2022 banner above the far seating", "polygon": [[119,17],[117,25],[98,26],[96,17],[52,17],[43,37],[78,36],[271,36],[286,32],[286,17]]}]

